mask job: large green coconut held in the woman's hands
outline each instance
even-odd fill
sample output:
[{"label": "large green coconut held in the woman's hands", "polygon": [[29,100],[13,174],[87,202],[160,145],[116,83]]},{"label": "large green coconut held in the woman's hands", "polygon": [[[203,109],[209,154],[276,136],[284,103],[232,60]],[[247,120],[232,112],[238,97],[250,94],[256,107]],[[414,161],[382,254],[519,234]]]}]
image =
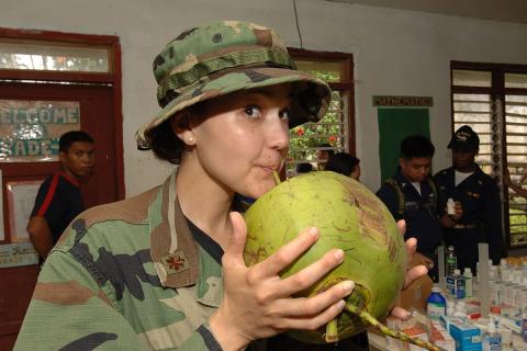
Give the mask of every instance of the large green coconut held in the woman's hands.
[{"label": "large green coconut held in the woman's hands", "polygon": [[348,308],[326,328],[290,331],[293,338],[309,343],[343,340],[384,318],[395,305],[406,270],[404,239],[385,205],[351,178],[327,171],[291,178],[258,199],[245,219],[247,265],[265,260],[303,229],[319,229],[316,244],[284,269],[282,278],[306,268],[332,249],[345,252],[341,264],[298,296],[314,296],[351,280],[355,290],[347,297]]}]

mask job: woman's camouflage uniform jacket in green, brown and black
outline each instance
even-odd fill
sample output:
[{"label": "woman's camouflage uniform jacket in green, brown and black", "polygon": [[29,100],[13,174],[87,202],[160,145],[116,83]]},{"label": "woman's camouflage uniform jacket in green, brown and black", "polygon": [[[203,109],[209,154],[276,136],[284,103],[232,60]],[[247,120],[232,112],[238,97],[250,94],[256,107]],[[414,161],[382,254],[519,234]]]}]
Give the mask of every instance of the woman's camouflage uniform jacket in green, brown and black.
[{"label": "woman's camouflage uniform jacket in green, brown and black", "polygon": [[197,245],[178,201],[168,218],[170,184],[71,223],[15,350],[221,350],[208,320],[223,297],[222,267]]}]

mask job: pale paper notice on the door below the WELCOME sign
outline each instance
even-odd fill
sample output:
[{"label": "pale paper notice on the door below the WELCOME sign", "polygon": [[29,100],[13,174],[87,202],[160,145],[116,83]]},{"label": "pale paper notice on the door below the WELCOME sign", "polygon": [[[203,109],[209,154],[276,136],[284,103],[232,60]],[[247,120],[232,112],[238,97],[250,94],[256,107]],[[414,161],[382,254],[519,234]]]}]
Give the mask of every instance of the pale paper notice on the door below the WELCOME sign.
[{"label": "pale paper notice on the door below the WELCOME sign", "polygon": [[11,242],[30,241],[26,230],[27,222],[35,204],[38,188],[43,182],[44,180],[27,180],[5,184]]}]

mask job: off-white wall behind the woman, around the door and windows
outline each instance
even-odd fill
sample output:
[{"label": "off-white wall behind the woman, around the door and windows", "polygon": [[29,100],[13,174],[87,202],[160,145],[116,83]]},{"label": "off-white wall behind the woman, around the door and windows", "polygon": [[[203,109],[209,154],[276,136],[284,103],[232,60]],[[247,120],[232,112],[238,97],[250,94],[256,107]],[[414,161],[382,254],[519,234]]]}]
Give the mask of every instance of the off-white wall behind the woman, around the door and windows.
[{"label": "off-white wall behind the woman, around the door and windows", "polygon": [[[123,64],[126,195],[159,183],[170,167],[135,148],[134,133],[157,111],[152,60],[189,26],[247,20],[300,47],[292,0],[1,0],[0,26],[117,35]],[[362,179],[380,183],[377,110],[371,97],[430,95],[434,169],[449,166],[451,59],[527,65],[527,25],[352,5],[296,1],[303,47],[355,54],[357,156]]]}]

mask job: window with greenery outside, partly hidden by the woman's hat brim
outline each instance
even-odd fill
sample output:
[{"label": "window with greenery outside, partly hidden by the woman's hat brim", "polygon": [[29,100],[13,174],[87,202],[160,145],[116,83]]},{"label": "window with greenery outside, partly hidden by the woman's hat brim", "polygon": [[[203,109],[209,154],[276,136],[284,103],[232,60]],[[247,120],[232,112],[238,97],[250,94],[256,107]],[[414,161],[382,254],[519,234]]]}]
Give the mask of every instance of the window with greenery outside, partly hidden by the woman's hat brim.
[{"label": "window with greenery outside, partly hidden by the woman's hat brim", "polygon": [[300,70],[328,82],[333,95],[329,110],[318,123],[305,123],[291,129],[287,176],[296,174],[298,165],[316,169],[325,160],[317,150],[355,154],[354,60],[349,54],[289,49]]}]

